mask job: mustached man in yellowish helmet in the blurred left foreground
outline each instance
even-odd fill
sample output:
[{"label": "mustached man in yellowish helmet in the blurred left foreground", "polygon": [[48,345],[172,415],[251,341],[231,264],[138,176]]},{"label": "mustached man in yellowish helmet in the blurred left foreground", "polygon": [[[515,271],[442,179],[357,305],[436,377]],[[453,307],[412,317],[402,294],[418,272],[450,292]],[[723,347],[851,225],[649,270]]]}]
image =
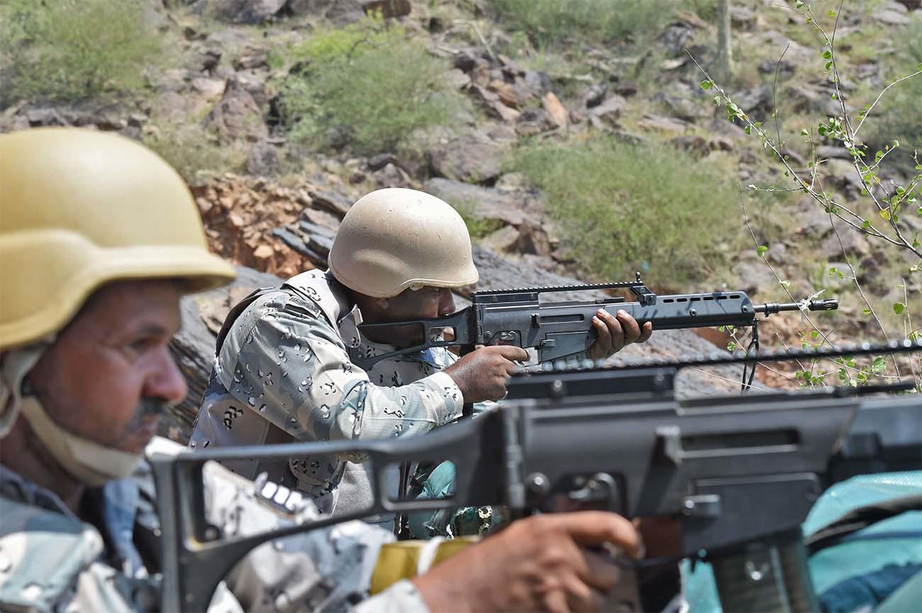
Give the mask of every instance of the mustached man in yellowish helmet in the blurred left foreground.
[{"label": "mustached man in yellowish helmet in the blurred left foreground", "polygon": [[[0,185],[0,609],[158,610],[160,529],[142,455],[186,393],[167,349],[179,299],[233,269],[207,252],[175,171],[121,136],[0,135]],[[207,519],[226,536],[290,521],[254,483],[211,464],[204,477]],[[256,548],[209,610],[343,610],[367,595],[391,539],[352,523]],[[603,542],[639,549],[610,513],[530,518],[357,608],[600,607],[617,569],[579,546]]]}]

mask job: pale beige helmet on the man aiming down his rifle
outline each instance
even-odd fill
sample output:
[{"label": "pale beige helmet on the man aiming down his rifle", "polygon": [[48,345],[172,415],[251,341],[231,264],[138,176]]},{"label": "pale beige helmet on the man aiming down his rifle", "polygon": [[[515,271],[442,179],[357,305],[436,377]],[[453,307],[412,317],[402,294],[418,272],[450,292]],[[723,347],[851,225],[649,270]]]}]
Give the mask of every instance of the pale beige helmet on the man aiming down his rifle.
[{"label": "pale beige helmet on the man aiming down his rifle", "polygon": [[340,283],[374,298],[422,286],[457,288],[478,278],[457,211],[434,195],[397,187],[364,195],[349,208],[329,266]]}]

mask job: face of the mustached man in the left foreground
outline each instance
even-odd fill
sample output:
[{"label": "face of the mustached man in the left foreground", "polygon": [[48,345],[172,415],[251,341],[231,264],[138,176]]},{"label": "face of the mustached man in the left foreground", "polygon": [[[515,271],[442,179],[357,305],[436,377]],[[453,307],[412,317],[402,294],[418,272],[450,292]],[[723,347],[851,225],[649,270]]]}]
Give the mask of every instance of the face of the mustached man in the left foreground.
[{"label": "face of the mustached man in the left foreground", "polygon": [[180,328],[173,281],[124,281],[94,294],[30,371],[48,415],[65,430],[140,453],[165,408],[186,394],[167,350]]}]

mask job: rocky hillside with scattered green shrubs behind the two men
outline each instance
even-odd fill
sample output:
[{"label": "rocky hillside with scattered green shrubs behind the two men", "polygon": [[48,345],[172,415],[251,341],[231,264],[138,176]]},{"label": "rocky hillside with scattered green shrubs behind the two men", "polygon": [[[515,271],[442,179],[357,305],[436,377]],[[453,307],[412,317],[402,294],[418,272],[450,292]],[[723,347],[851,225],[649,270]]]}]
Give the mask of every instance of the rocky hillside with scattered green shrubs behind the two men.
[{"label": "rocky hillside with scattered green shrubs behind the two men", "polygon": [[[830,317],[770,320],[762,340],[776,345],[812,343],[814,328],[832,340],[903,337],[914,329],[907,315],[922,316],[922,275],[909,272],[919,257],[869,233],[891,218],[862,195],[841,139],[817,135],[818,122],[841,114],[833,94],[857,113],[922,63],[918,0],[848,0],[834,17],[838,2],[809,3],[822,28],[835,28],[838,88],[823,69],[828,46],[793,1],[729,2],[732,71],[714,0],[132,0],[117,3],[132,40],[94,30],[88,51],[75,30],[114,19],[112,2],[87,0],[80,15],[61,0],[0,9],[0,130],[80,125],[143,140],[193,185],[212,248],[235,264],[279,277],[323,266],[351,202],[409,186],[466,218],[480,288],[533,272],[552,283],[642,270],[660,291],[840,297]],[[42,36],[51,28],[56,38]],[[46,49],[47,40],[77,46]],[[123,55],[102,55],[110,47]],[[112,67],[71,78],[81,65],[61,66],[77,48]],[[787,168],[739,118],[727,121],[698,64],[778,135]],[[909,88],[908,101],[881,102],[864,128],[875,148],[902,141],[876,171],[881,199],[918,174],[908,152],[922,144],[919,81],[892,88]],[[790,171],[833,197],[833,213],[876,225],[833,224],[831,207],[788,191]],[[917,207],[891,210],[884,230],[911,243]],[[220,308],[205,311],[202,329],[213,330]],[[687,335],[662,337],[657,355],[705,350]],[[791,373],[760,376],[791,383]]]}]

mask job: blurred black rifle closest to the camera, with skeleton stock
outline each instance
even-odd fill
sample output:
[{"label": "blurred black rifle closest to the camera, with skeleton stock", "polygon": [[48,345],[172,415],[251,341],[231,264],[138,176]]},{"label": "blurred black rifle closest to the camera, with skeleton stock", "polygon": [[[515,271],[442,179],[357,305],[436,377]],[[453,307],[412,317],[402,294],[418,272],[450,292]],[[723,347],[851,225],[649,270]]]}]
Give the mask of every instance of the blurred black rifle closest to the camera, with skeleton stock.
[{"label": "blurred black rifle closest to the camera, with skeleton stock", "polygon": [[[922,351],[922,342],[758,360],[906,351]],[[502,407],[422,436],[154,454],[162,608],[204,610],[233,565],[268,540],[376,513],[490,504],[519,514],[549,511],[562,496],[627,517],[680,518],[683,557],[713,564],[724,610],[818,610],[800,525],[836,481],[922,468],[922,396],[867,395],[880,387],[684,401],[673,395],[672,383],[684,366],[752,361],[730,357],[517,375]],[[233,539],[220,539],[219,526],[207,524],[202,465],[208,460],[354,453],[372,463],[374,502],[365,511]],[[443,460],[455,464],[452,498],[398,501],[383,493],[389,466]],[[919,501],[908,504],[914,508]],[[846,535],[848,523],[828,526],[812,547]],[[628,602],[640,606],[636,597]]]}]

